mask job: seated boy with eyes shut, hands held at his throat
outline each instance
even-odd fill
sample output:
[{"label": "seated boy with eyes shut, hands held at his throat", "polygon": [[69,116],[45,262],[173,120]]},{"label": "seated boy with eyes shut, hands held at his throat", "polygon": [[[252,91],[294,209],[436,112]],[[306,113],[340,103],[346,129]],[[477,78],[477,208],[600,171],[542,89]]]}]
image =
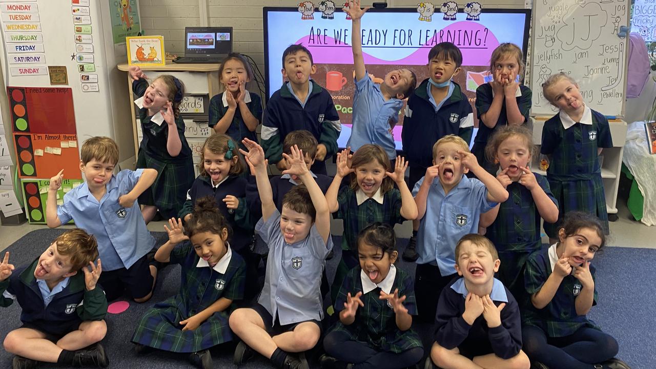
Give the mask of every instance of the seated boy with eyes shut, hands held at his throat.
[{"label": "seated boy with eyes shut, hands held at his throat", "polygon": [[462,278],[440,295],[430,359],[442,369],[528,369],[517,301],[494,278],[501,264],[494,245],[467,234],[455,248],[455,259]]}]

